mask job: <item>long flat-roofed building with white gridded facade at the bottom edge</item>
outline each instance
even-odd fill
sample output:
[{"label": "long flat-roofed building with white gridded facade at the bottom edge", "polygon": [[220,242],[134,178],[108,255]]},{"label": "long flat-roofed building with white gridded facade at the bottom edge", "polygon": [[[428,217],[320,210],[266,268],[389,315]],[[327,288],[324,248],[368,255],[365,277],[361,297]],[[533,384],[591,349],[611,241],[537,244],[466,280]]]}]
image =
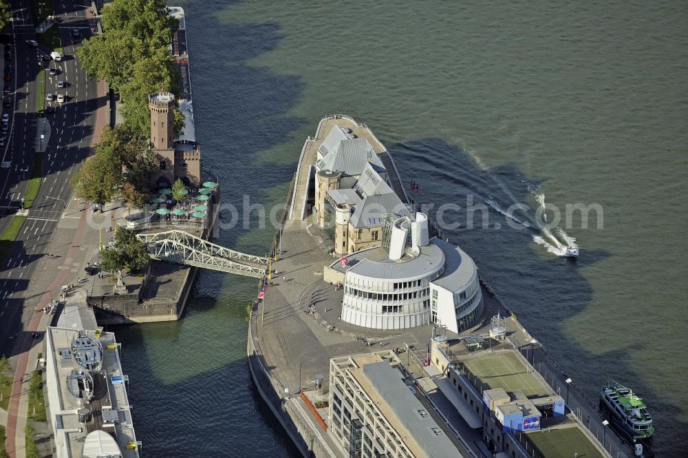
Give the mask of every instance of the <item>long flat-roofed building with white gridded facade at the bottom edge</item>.
[{"label": "long flat-roofed building with white gridded facade at the bottom edge", "polygon": [[330,360],[329,432],[352,458],[461,457],[405,383],[394,352]]}]

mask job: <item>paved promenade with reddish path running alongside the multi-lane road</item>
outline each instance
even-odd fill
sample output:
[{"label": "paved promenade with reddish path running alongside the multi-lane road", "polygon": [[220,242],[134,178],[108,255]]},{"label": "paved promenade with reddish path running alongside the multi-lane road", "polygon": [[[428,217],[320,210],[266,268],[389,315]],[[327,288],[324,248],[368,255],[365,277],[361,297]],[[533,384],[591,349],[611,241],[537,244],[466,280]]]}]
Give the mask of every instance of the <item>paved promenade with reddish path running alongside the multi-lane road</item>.
[{"label": "paved promenade with reddish path running alongside the multi-lane road", "polygon": [[[107,84],[98,82],[98,98],[107,96]],[[98,143],[100,132],[108,122],[107,105],[96,111],[95,132],[92,144]],[[25,456],[24,428],[26,426],[28,382],[24,382],[35,368],[37,354],[43,348],[43,342],[33,340],[35,331],[45,331],[49,317],[43,308],[60,295],[63,284],[76,283],[77,277],[83,277],[83,267],[98,251],[98,230],[89,228],[88,219],[91,210],[73,209],[67,206],[58,227],[54,232],[46,253],[52,256],[41,258],[39,269],[28,284],[26,299],[23,303],[24,313],[30,313],[28,328],[21,335],[19,356],[16,361],[12,399],[8,407],[6,448],[10,457]],[[98,218],[97,216],[95,218]],[[100,218],[109,218],[107,214]]]}]

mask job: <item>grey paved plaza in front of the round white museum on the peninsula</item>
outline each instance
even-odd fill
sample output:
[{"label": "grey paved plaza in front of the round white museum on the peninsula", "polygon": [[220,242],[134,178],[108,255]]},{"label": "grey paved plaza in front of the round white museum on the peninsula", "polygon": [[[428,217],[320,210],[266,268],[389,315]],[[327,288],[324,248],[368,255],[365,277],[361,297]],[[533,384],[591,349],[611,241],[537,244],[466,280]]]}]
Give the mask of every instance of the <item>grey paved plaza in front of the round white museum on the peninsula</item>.
[{"label": "grey paved plaza in front of the round white museum on the peninsula", "polygon": [[[316,375],[329,379],[330,358],[405,348],[405,344],[425,348],[431,335],[429,325],[378,331],[342,322],[338,317],[341,315],[343,289],[336,290],[322,280],[323,266],[334,261],[327,253],[327,247],[321,233],[309,221],[290,220],[286,223],[281,256],[272,264],[275,269],[272,285],[268,286],[264,302],[257,304],[250,318],[248,344],[250,362],[255,357],[252,371],[264,372],[264,378],[271,382],[257,382],[261,393],[271,391],[264,394],[266,402],[278,419],[287,424],[288,433],[301,451],[307,454],[312,450],[318,457],[332,456],[327,448],[336,452],[334,456],[348,456],[330,435],[316,426],[315,417],[297,396],[301,391],[313,388]],[[308,313],[311,305],[312,313]],[[358,337],[365,337],[371,344],[360,342]],[[402,359],[406,360],[407,356],[402,355]],[[413,363],[413,358],[410,360]],[[415,367],[414,371],[418,377],[427,377],[420,367]],[[260,379],[260,375],[255,378]],[[429,403],[428,399],[419,397],[420,402]],[[443,413],[451,410],[449,400],[442,396],[433,395],[431,402]],[[321,417],[326,420],[327,408],[320,410]],[[285,411],[289,415],[284,415]],[[468,443],[473,455],[480,456],[477,444],[480,435],[458,415],[449,413],[445,416]],[[289,428],[290,422],[296,428]],[[455,441],[460,442],[458,439]],[[462,444],[458,447],[464,450]],[[464,455],[469,456],[471,452]]]}]

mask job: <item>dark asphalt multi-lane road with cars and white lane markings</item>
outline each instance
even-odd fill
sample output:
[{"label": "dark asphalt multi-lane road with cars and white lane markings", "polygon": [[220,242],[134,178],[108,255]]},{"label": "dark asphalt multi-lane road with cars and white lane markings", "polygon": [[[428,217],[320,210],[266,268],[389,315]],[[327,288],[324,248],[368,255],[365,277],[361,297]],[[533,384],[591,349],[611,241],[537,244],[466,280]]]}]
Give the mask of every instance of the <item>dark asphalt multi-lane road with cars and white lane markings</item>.
[{"label": "dark asphalt multi-lane road with cars and white lane markings", "polygon": [[[47,115],[50,124],[50,140],[46,145],[43,161],[43,181],[28,218],[5,263],[0,266],[0,353],[15,355],[23,340],[22,331],[32,316],[39,298],[27,298],[29,279],[38,261],[45,256],[45,247],[54,233],[65,204],[69,204],[71,189],[68,185],[76,167],[88,155],[94,131],[96,110],[96,82],[89,81],[74,57],[74,48],[81,39],[72,39],[70,30],[78,28],[83,37],[89,37],[90,26],[85,6],[73,0],[54,1],[61,29],[65,61],[50,65],[58,74],[48,79],[46,92],[65,94],[63,104],[55,105],[54,114]],[[39,73],[38,53],[41,50],[25,45],[26,39],[35,39],[32,26],[30,1],[11,2],[12,36],[16,49],[14,81],[17,83],[17,110],[12,122],[12,136],[4,152],[3,161],[12,163],[0,168],[0,207],[17,206],[23,196],[35,152],[36,139],[36,75]],[[57,81],[66,81],[64,89]],[[104,101],[101,101],[103,103]],[[12,115],[10,115],[12,117]],[[74,203],[72,202],[72,205]],[[46,284],[47,287],[47,284]]]}]

